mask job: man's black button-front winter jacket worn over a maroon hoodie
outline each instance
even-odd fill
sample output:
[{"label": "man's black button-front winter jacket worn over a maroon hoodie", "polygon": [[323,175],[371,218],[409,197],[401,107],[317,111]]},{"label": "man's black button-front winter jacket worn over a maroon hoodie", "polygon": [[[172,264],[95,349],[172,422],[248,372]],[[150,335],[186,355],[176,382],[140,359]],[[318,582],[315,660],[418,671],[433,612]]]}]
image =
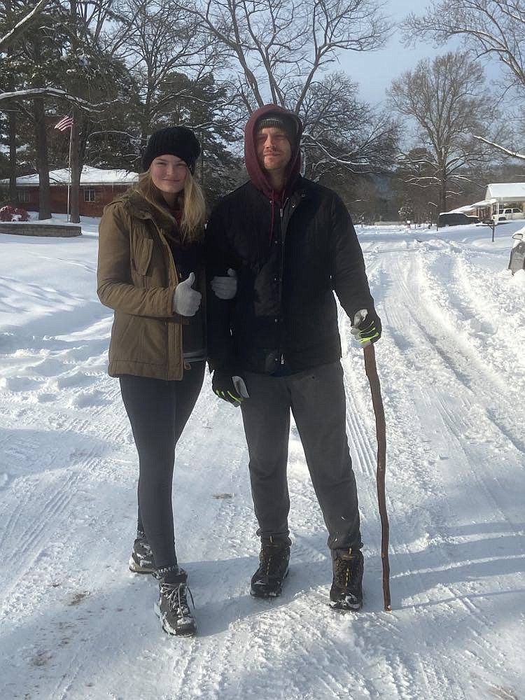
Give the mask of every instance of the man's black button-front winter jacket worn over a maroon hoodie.
[{"label": "man's black button-front winter jacket worn over a maroon hoodie", "polygon": [[230,301],[208,295],[211,368],[298,372],[341,356],[337,307],[372,309],[365,264],[342,200],[298,178],[283,207],[248,182],[207,225],[208,278],[238,275]]}]

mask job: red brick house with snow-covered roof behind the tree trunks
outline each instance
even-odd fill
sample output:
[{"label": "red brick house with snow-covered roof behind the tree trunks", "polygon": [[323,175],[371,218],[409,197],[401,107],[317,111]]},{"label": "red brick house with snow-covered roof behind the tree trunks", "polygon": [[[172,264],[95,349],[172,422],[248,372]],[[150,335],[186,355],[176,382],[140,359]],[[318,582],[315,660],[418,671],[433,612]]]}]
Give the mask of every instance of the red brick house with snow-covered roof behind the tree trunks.
[{"label": "red brick house with snow-covered roof behind the tree trunks", "polygon": [[[106,204],[125,192],[139,178],[137,173],[127,170],[100,170],[85,165],[80,176],[81,216],[102,216]],[[67,214],[67,169],[52,170],[49,174],[51,189],[51,211]],[[38,211],[38,173],[16,179],[18,204],[27,211]]]}]

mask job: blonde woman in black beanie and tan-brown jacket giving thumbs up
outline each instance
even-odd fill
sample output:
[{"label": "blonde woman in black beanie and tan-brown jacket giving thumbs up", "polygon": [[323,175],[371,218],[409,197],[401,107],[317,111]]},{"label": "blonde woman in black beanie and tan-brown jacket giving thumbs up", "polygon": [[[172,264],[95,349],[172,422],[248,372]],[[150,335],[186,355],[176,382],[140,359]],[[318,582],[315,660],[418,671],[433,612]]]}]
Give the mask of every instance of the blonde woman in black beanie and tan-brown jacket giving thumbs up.
[{"label": "blonde woman in black beanie and tan-brown jacket giving thumbs up", "polygon": [[[139,454],[139,518],[130,568],[159,580],[158,613],[171,634],[194,634],[188,576],[174,545],[174,449],[204,377],[204,197],[193,177],[200,144],[186,127],[152,134],[136,188],[104,210],[97,292],[115,310],[109,374]],[[235,295],[233,277],[214,293]]]}]

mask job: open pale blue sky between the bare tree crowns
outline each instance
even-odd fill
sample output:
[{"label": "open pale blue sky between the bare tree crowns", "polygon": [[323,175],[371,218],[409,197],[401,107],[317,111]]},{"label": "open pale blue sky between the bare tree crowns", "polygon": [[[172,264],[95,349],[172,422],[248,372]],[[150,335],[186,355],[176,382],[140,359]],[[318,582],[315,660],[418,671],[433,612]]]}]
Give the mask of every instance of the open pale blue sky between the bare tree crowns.
[{"label": "open pale blue sky between the bare tree crowns", "polygon": [[[392,20],[392,24],[400,22],[408,13],[422,14],[427,3],[424,0],[391,0],[384,10]],[[352,80],[359,83],[360,98],[370,104],[380,104],[385,99],[385,90],[393,78],[404,71],[414,68],[416,63],[425,57],[434,57],[447,50],[458,48],[458,42],[450,43],[447,47],[435,48],[431,43],[416,43],[414,48],[405,48],[400,35],[396,31],[381,51],[355,52],[347,51],[340,57],[339,69],[347,73]],[[486,68],[486,74],[491,79],[499,80],[501,76],[498,64]]]}]

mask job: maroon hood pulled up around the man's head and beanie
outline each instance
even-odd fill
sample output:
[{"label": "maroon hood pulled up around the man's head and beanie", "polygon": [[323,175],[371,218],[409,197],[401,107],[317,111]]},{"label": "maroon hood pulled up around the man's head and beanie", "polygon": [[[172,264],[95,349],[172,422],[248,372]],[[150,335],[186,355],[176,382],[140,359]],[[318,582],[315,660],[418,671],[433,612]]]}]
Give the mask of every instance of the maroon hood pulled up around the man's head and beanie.
[{"label": "maroon hood pulled up around the man's head and beanie", "polygon": [[[282,193],[276,193],[272,189],[272,185],[269,183],[265,171],[260,167],[259,161],[257,160],[257,150],[255,148],[255,124],[258,120],[270,114],[293,120],[297,130],[295,142],[290,144],[292,146],[292,158],[286,169],[285,186]],[[279,107],[277,104],[265,104],[259,109],[256,109],[246,123],[244,129],[244,162],[246,164],[246,170],[255,187],[269,197],[270,200],[282,201],[286,199],[286,195],[288,195],[293,188],[293,183],[297,179],[301,168],[301,135],[302,123],[300,118],[294,112],[283,109],[283,107]]]}]

